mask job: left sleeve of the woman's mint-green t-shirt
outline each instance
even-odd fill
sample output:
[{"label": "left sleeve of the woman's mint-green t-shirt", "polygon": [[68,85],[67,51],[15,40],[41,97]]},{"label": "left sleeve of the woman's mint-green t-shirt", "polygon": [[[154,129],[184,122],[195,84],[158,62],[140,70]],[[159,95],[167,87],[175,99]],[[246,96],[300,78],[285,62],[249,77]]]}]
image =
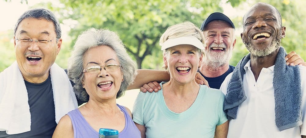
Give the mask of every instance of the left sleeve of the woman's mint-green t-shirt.
[{"label": "left sleeve of the woman's mint-green t-shirt", "polygon": [[139,125],[145,125],[144,124],[144,94],[145,93],[143,92],[139,92],[134,102],[133,111],[132,111],[133,121]]}]

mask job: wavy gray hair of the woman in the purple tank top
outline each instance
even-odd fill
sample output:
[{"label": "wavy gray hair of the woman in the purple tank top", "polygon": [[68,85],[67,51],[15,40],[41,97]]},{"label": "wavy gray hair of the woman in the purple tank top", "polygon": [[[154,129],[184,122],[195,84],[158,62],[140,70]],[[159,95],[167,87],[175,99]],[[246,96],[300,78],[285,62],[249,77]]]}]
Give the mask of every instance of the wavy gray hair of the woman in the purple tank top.
[{"label": "wavy gray hair of the woman in the purple tank top", "polygon": [[76,96],[84,102],[89,100],[89,95],[82,86],[84,54],[90,48],[102,45],[112,48],[119,59],[119,64],[121,64],[124,81],[121,82],[117,98],[121,97],[127,87],[134,83],[137,75],[136,62],[126,52],[125,46],[117,33],[108,29],[89,29],[84,31],[76,39],[72,55],[68,59],[68,77],[75,83],[73,88]]}]

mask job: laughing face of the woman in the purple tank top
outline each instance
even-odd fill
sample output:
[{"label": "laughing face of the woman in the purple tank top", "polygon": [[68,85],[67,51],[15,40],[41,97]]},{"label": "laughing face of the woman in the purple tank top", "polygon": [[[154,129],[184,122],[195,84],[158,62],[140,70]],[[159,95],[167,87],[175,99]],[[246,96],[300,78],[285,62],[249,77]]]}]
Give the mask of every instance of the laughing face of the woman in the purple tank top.
[{"label": "laughing face of the woman in the purple tank top", "polygon": [[[112,63],[119,64],[116,53],[112,48],[102,45],[91,48],[84,54],[83,68]],[[106,71],[102,67],[98,73],[84,72],[82,83],[85,85],[89,100],[116,100],[122,79],[123,74],[120,68]]]}]

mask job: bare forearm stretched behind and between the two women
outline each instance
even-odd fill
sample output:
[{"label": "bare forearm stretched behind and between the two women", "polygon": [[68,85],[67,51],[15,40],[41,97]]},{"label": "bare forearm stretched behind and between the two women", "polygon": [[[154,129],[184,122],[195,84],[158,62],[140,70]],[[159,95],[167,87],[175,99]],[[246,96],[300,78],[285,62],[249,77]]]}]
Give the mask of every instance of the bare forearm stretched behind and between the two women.
[{"label": "bare forearm stretched behind and between the two women", "polygon": [[139,89],[144,84],[149,82],[157,81],[169,81],[170,74],[166,70],[150,70],[150,69],[139,69],[135,79],[135,83],[128,87],[128,90]]}]

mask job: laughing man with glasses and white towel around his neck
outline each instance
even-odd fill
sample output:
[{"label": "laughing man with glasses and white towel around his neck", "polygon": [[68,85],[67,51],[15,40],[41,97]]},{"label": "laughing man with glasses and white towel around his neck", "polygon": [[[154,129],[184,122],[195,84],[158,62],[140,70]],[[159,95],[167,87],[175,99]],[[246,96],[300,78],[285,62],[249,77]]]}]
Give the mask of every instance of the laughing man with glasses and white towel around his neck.
[{"label": "laughing man with glasses and white towel around his neck", "polygon": [[32,9],[14,28],[16,61],[0,74],[0,137],[51,137],[77,108],[64,69],[54,63],[62,46],[61,27],[46,9]]}]

